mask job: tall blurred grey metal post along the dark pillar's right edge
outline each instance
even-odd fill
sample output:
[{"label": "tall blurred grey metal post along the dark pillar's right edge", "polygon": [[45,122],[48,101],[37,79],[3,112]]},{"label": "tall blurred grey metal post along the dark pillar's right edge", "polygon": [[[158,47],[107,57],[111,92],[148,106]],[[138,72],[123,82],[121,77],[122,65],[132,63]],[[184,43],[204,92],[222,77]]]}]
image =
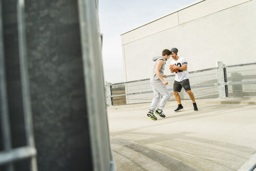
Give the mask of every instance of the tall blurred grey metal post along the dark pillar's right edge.
[{"label": "tall blurred grey metal post along the dark pillar's right edge", "polygon": [[[93,170],[109,170],[112,161],[107,111],[105,106],[104,75],[100,47],[97,1],[78,0],[84,85],[92,152]],[[110,89],[110,85],[109,85]],[[108,92],[108,98],[109,91]],[[104,102],[104,104],[103,104]],[[100,103],[100,104],[99,104]],[[111,105],[111,103],[109,103]]]}]

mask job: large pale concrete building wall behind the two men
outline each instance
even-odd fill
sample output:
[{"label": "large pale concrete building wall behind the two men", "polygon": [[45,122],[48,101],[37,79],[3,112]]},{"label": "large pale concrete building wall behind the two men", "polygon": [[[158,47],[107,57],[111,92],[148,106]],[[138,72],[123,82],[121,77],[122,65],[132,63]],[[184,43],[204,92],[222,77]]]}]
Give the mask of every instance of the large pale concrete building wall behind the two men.
[{"label": "large pale concrete building wall behind the two men", "polygon": [[[121,35],[125,80],[150,78],[153,56],[177,47],[194,71],[256,62],[255,0],[205,0]],[[169,62],[165,74],[170,75]]]}]

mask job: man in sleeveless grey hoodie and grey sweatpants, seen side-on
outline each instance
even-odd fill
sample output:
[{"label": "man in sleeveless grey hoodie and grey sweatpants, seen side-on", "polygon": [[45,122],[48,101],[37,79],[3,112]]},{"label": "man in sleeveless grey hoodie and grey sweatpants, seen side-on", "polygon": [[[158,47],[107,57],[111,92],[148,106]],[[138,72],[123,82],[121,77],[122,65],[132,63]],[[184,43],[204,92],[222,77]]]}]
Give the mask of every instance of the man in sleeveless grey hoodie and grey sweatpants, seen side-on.
[{"label": "man in sleeveless grey hoodie and grey sweatpants, seen side-on", "polygon": [[170,54],[172,54],[172,52],[165,49],[162,52],[162,56],[156,56],[156,57],[153,57],[152,59],[154,61],[154,64],[152,68],[152,74],[150,77],[150,84],[154,92],[154,98],[151,102],[151,106],[147,114],[148,117],[150,117],[152,120],[157,120],[157,117],[155,117],[154,115],[154,111],[157,104],[160,101],[161,96],[162,96],[162,100],[160,101],[160,104],[156,109],[155,114],[161,117],[165,117],[165,115],[163,114],[163,109],[167,100],[170,97],[170,93],[166,88],[166,85],[168,84],[168,82],[164,80],[164,78],[167,78],[166,75],[164,75],[164,67],[166,64],[166,60],[170,58]]}]

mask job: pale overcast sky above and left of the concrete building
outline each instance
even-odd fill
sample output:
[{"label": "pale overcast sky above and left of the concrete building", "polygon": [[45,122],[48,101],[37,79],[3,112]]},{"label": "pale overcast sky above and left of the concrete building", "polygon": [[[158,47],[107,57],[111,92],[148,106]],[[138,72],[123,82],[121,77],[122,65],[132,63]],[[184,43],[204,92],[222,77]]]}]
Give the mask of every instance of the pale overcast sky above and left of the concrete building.
[{"label": "pale overcast sky above and left of the concrete building", "polygon": [[121,36],[127,31],[196,2],[196,0],[99,0],[105,81],[124,82]]}]

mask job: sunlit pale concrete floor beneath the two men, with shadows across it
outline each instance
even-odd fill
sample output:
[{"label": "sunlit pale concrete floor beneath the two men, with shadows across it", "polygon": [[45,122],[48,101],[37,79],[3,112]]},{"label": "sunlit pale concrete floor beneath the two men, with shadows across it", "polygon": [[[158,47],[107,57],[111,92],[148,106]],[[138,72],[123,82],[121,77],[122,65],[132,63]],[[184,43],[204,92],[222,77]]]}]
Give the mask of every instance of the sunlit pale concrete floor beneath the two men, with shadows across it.
[{"label": "sunlit pale concrete floor beneath the two men, with shadows across it", "polygon": [[256,99],[182,101],[165,118],[147,116],[150,103],[108,107],[117,170],[249,170],[256,163]]}]

